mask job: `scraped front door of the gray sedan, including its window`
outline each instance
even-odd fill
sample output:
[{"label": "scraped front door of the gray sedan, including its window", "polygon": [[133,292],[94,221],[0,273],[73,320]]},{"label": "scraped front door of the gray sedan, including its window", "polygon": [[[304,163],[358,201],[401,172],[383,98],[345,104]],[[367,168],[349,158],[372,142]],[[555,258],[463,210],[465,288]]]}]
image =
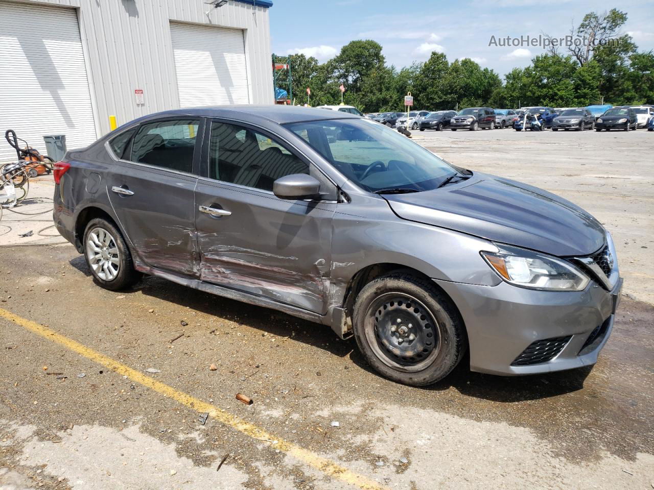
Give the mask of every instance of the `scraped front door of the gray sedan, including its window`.
[{"label": "scraped front door of the gray sedan, including its window", "polygon": [[336,204],[288,201],[273,182],[315,172],[271,135],[213,121],[196,189],[200,278],[311,312],[326,312]]}]

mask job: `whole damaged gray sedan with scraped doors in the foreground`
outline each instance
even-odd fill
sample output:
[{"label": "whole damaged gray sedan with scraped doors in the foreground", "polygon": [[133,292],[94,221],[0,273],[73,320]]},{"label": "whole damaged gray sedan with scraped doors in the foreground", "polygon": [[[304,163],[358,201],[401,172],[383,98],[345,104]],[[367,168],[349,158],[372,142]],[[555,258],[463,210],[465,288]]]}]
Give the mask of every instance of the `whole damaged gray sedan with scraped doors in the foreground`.
[{"label": "whole damaged gray sedan with scraped doors in the foreground", "polygon": [[99,286],[152,274],[329,325],[397,382],[437,382],[466,350],[492,374],[593,365],[613,327],[622,280],[593,216],[351,114],[152,114],[54,176],[55,223]]}]

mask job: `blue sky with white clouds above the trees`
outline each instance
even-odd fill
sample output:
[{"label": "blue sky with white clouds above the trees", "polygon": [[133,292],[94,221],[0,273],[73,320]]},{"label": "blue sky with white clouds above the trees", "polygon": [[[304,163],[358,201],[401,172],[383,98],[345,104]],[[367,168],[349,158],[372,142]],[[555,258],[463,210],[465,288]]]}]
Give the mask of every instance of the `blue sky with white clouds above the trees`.
[{"label": "blue sky with white clouds above the trees", "polygon": [[491,36],[564,36],[587,12],[617,7],[625,32],[641,50],[654,49],[653,0],[274,0],[275,54],[303,52],[326,61],[353,39],[374,39],[396,67],[425,61],[433,50],[450,61],[470,57],[504,75],[543,52],[533,46],[489,46]]}]

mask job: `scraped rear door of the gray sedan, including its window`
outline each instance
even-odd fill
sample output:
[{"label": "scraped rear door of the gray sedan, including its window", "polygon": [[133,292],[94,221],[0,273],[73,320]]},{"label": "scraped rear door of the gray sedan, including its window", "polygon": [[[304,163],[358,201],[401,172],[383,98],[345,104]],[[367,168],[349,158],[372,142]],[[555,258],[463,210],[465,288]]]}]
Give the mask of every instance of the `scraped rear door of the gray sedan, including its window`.
[{"label": "scraped rear door of the gray sedan, including its window", "polygon": [[109,200],[132,250],[146,265],[190,276],[198,258],[194,167],[202,130],[199,118],[143,123],[107,173]]}]

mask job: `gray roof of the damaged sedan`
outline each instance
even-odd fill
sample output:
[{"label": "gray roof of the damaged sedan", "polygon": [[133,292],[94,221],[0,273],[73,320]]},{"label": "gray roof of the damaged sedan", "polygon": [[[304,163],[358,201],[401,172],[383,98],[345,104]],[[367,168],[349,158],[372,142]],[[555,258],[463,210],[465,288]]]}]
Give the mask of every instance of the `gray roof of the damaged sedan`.
[{"label": "gray roof of the damaged sedan", "polygon": [[269,122],[275,122],[278,124],[329,119],[360,118],[360,116],[356,116],[355,114],[339,111],[328,112],[320,108],[288,105],[235,104],[165,110],[163,112],[150,114],[144,118],[139,118],[139,120],[135,120],[129,124],[131,125],[138,121],[177,116],[196,116],[205,118],[243,118],[244,120],[264,119]]}]

